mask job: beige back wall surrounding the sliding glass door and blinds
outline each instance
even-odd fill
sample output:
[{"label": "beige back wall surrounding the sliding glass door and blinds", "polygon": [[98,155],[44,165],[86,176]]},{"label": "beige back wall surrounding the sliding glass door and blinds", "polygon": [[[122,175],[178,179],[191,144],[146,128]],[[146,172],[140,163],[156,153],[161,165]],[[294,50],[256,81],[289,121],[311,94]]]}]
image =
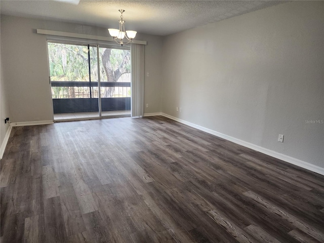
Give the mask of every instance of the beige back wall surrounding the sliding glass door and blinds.
[{"label": "beige back wall surrounding the sliding glass door and blinds", "polygon": [[[96,26],[2,15],[2,65],[6,70],[4,78],[8,85],[12,123],[53,119],[46,35],[36,34],[37,28],[108,36],[107,29]],[[156,90],[160,90],[161,83],[162,37],[139,34],[141,37],[148,43],[145,69],[153,75],[145,80],[145,102],[149,103],[145,113],[160,112],[160,92]]]}]

